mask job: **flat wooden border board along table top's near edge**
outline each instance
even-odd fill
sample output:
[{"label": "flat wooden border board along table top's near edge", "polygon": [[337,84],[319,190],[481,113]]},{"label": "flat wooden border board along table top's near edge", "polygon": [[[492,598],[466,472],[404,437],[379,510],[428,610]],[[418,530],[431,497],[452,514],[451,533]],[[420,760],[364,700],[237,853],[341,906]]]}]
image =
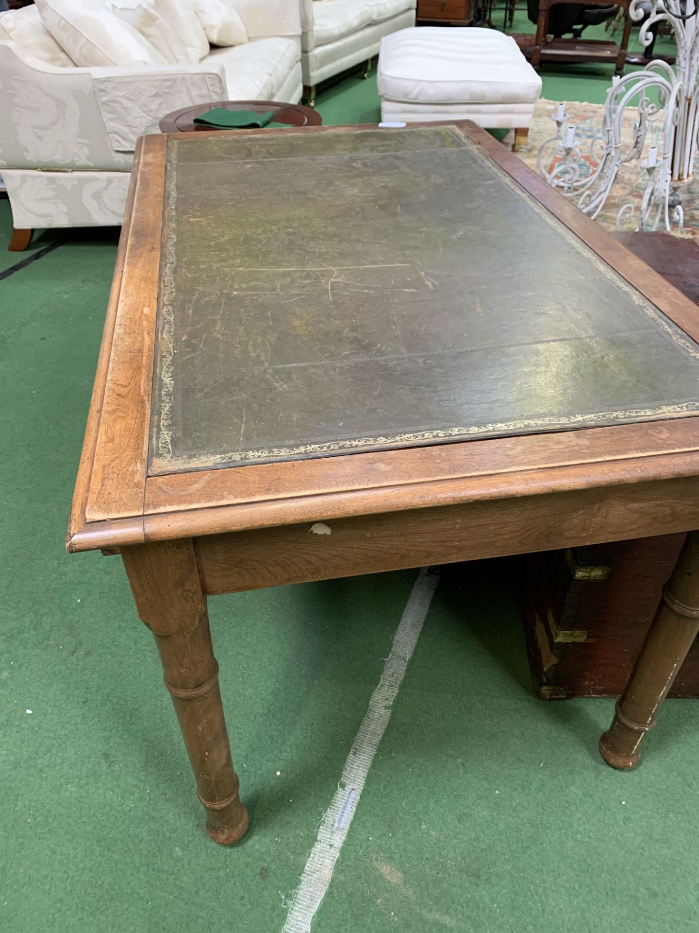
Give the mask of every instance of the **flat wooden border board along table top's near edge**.
[{"label": "flat wooden border board along table top's near edge", "polygon": [[149,477],[146,515],[699,450],[699,418]]}]

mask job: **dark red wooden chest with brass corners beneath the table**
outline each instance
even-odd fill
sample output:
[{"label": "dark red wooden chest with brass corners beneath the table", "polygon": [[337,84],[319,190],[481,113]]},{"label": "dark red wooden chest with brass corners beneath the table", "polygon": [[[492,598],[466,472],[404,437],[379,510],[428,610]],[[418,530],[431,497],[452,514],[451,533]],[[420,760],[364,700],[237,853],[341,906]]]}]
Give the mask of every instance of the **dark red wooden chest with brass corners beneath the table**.
[{"label": "dark red wooden chest with brass corners beneath the table", "polygon": [[[657,231],[612,235],[699,303],[696,240]],[[657,535],[518,559],[527,653],[541,699],[623,692],[683,541],[681,534]],[[668,696],[699,697],[699,639]]]}]

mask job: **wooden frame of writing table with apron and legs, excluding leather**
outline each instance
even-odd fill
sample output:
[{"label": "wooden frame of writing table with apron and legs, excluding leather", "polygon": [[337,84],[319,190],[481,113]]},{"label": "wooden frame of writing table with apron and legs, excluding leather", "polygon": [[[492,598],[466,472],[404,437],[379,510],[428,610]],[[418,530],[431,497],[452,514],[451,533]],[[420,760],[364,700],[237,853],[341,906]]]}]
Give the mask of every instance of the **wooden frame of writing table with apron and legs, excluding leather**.
[{"label": "wooden frame of writing table with apron and legs, excluding leather", "polygon": [[[458,125],[699,341],[690,299],[487,132],[470,121]],[[121,553],[140,618],[158,644],[207,830],[227,843],[245,831],[247,814],[230,757],[208,595],[692,531],[699,528],[699,418],[148,476],[167,143],[165,135],[146,136],[136,151],[67,547]],[[331,535],[309,534],[319,521]],[[698,574],[699,533],[692,533],[601,740],[616,767],[637,762],[640,739],[699,629]]]}]

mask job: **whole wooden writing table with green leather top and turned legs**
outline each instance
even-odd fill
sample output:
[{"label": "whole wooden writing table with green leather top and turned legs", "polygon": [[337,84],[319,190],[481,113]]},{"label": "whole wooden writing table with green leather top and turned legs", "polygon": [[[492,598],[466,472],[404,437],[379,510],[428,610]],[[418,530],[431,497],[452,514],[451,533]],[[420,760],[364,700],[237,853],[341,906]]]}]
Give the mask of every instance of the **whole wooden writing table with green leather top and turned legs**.
[{"label": "whole wooden writing table with green leather top and turned legs", "polygon": [[[207,595],[699,528],[697,339],[473,123],[144,137],[68,549],[121,553],[212,839],[247,814]],[[692,533],[616,767],[697,632],[697,569]]]}]

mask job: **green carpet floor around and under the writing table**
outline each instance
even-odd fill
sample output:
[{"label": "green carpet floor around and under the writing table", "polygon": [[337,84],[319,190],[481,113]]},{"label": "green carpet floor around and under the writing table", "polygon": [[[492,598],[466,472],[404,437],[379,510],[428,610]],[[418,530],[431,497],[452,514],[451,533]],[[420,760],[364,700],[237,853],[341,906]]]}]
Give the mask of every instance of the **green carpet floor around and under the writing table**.
[{"label": "green carpet floor around and under the writing table", "polygon": [[[610,81],[543,77],[552,99]],[[376,77],[318,104],[376,120]],[[0,271],[9,229],[0,202]],[[0,281],[0,928],[281,931],[415,573],[211,600],[251,814],[215,846],[119,559],[63,550],[117,233],[60,238]],[[613,703],[535,699],[510,577],[445,570],[314,933],[696,933],[699,706],[666,703],[641,768],[611,771]]]}]

